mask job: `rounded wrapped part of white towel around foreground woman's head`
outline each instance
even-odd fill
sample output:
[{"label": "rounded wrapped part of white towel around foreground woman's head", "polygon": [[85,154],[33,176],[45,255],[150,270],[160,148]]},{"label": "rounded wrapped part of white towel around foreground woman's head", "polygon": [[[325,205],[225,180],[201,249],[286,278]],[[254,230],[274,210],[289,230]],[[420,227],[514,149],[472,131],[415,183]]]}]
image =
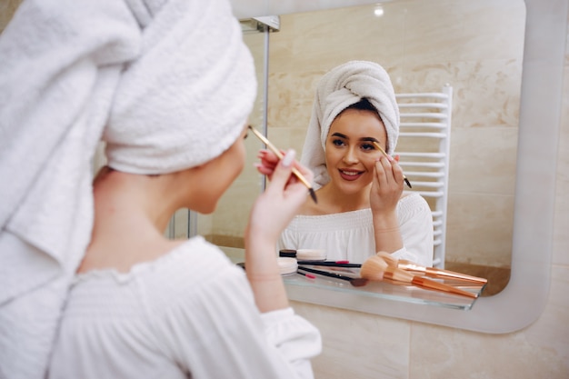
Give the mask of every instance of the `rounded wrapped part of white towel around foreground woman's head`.
[{"label": "rounded wrapped part of white towel around foreground woman's head", "polygon": [[230,8],[208,3],[170,0],[145,28],[105,128],[109,166],[172,173],[221,155],[243,131],[256,95],[253,57]]}]

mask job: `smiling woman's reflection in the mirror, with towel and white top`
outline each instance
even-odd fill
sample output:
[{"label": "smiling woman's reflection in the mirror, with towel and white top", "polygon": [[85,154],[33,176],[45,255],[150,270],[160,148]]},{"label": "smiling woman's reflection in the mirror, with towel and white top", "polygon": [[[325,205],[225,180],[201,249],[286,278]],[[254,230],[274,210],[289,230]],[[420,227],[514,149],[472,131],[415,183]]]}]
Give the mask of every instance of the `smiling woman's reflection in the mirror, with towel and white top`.
[{"label": "smiling woman's reflection in the mirror, with towel and white top", "polygon": [[399,109],[383,67],[335,67],[319,82],[313,109],[301,162],[314,171],[318,204],[304,204],[277,247],[324,249],[327,259],[358,263],[384,251],[431,266],[433,218],[422,196],[404,193],[403,171],[391,156]]}]

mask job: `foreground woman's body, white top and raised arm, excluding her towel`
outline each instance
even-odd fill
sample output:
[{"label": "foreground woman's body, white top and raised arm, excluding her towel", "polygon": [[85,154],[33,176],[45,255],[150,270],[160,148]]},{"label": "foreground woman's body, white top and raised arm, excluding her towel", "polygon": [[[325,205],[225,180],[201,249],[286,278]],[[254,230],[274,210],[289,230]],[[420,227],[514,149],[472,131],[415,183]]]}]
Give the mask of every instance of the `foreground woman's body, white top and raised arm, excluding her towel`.
[{"label": "foreground woman's body, white top and raised arm, excluding her towel", "polygon": [[294,152],[251,213],[248,283],[201,236],[172,241],[162,233],[176,209],[215,210],[243,168],[245,130],[202,165],[164,175],[104,167],[97,175],[93,237],[69,294],[50,378],[312,377],[309,358],[319,353],[320,336],[289,307],[274,254],[306,197],[291,176]]}]

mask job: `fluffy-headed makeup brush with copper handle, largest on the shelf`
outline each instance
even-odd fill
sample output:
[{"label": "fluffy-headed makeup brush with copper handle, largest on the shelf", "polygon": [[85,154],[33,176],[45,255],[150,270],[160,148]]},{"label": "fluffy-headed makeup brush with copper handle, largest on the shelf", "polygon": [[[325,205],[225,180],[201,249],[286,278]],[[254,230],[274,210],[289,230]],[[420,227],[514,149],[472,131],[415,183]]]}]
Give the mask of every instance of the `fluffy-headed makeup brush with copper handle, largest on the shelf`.
[{"label": "fluffy-headed makeup brush with copper handle, largest on the shelf", "polygon": [[448,294],[459,294],[474,299],[478,297],[478,294],[464,291],[452,285],[435,282],[434,280],[427,279],[423,276],[416,276],[414,274],[407,273],[406,271],[394,267],[393,265],[390,266],[387,264],[387,262],[384,261],[381,256],[377,254],[369,257],[364,262],[364,264],[362,264],[360,276],[369,280],[390,279],[397,282],[414,284],[415,286],[429,290],[445,292]]}]

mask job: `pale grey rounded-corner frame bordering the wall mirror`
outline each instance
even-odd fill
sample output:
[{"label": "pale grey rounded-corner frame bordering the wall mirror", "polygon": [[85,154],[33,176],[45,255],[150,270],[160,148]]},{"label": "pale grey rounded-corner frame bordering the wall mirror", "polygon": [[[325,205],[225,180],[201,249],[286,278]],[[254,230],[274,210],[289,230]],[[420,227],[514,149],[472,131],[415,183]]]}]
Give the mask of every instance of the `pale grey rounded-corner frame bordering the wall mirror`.
[{"label": "pale grey rounded-corner frame bordering the wall mirror", "polygon": [[[526,24],[510,281],[499,294],[476,300],[470,311],[373,299],[364,294],[287,285],[289,298],[311,304],[501,334],[532,324],[550,286],[555,175],[569,0],[524,0]],[[232,0],[235,15],[283,15],[377,1],[279,2]],[[314,4],[316,3],[316,4]],[[539,148],[536,148],[539,146]]]}]

